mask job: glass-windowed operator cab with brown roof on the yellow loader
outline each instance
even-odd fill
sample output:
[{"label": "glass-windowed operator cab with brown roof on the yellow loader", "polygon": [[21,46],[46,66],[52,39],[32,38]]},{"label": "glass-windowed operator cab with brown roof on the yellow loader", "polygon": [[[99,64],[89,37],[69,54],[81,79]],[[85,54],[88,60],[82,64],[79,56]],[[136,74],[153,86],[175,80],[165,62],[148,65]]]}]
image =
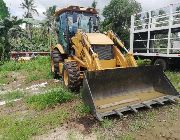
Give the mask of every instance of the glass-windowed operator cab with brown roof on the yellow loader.
[{"label": "glass-windowed operator cab with brown roof on the yellow loader", "polygon": [[78,29],[85,33],[98,31],[99,16],[94,8],[70,6],[57,11],[55,16],[58,42],[67,54],[71,53],[69,52],[71,38]]}]

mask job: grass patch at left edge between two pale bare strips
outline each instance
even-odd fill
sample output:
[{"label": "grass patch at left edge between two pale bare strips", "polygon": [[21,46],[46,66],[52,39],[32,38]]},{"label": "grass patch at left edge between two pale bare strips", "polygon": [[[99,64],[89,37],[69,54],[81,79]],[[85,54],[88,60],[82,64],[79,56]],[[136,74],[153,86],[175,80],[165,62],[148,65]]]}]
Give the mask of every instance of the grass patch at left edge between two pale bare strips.
[{"label": "grass patch at left edge between two pale bare strips", "polygon": [[14,99],[20,99],[22,97],[24,97],[24,93],[22,91],[19,90],[15,90],[15,91],[11,91],[5,94],[0,94],[0,101],[11,101]]}]

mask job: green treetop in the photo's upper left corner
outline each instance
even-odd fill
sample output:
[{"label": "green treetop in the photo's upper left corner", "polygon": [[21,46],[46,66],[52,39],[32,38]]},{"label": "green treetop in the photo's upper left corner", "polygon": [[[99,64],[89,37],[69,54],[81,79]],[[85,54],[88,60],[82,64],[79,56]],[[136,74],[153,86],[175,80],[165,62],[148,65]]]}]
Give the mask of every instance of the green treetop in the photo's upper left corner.
[{"label": "green treetop in the photo's upper left corner", "polygon": [[6,4],[3,0],[0,0],[0,19],[4,19],[5,17],[9,17],[9,11],[6,7]]}]

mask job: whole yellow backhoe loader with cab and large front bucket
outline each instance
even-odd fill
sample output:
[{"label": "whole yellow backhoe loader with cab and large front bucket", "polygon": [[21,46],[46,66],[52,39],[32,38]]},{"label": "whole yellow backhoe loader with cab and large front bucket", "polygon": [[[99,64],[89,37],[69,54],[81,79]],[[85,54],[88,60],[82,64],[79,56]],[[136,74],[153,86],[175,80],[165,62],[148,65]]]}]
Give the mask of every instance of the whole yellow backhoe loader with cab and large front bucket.
[{"label": "whole yellow backhoe loader with cab and large front bucket", "polygon": [[51,47],[51,71],[73,92],[82,85],[83,101],[98,120],[179,97],[159,66],[138,67],[113,31],[99,32],[96,9],[69,6],[55,17],[58,44]]}]

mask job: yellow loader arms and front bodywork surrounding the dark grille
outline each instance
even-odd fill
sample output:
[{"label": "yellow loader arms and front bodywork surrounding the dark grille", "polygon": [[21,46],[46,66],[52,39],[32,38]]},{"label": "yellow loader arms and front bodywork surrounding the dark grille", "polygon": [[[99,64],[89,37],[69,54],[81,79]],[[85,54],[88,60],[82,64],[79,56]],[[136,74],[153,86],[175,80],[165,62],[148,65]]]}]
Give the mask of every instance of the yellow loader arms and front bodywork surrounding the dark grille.
[{"label": "yellow loader arms and front bodywork surrounding the dark grille", "polygon": [[[85,67],[89,71],[137,66],[132,54],[129,52],[127,52],[126,55],[121,53],[118,47],[125,49],[125,46],[112,31],[109,31],[107,35],[105,35],[102,33],[84,34],[78,30],[71,40],[73,42],[72,48],[75,50],[75,56],[71,58],[71,60],[74,59],[79,63],[79,66]],[[114,46],[114,42],[119,46]],[[108,61],[99,60],[98,54],[92,50],[92,45],[113,46],[114,59]]]}]

